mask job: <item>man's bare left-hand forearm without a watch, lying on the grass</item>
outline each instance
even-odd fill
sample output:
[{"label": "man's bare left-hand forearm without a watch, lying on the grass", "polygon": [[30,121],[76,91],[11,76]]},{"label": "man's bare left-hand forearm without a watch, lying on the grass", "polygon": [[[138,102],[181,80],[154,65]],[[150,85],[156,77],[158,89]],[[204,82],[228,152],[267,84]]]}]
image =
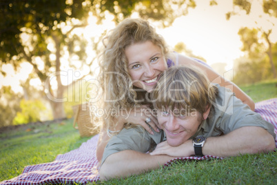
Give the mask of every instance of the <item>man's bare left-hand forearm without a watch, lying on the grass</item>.
[{"label": "man's bare left-hand forearm without a watch, lying on the grass", "polygon": [[167,155],[151,156],[135,150],[123,150],[105,159],[100,168],[101,181],[115,177],[127,177],[150,171],[174,159]]}]

